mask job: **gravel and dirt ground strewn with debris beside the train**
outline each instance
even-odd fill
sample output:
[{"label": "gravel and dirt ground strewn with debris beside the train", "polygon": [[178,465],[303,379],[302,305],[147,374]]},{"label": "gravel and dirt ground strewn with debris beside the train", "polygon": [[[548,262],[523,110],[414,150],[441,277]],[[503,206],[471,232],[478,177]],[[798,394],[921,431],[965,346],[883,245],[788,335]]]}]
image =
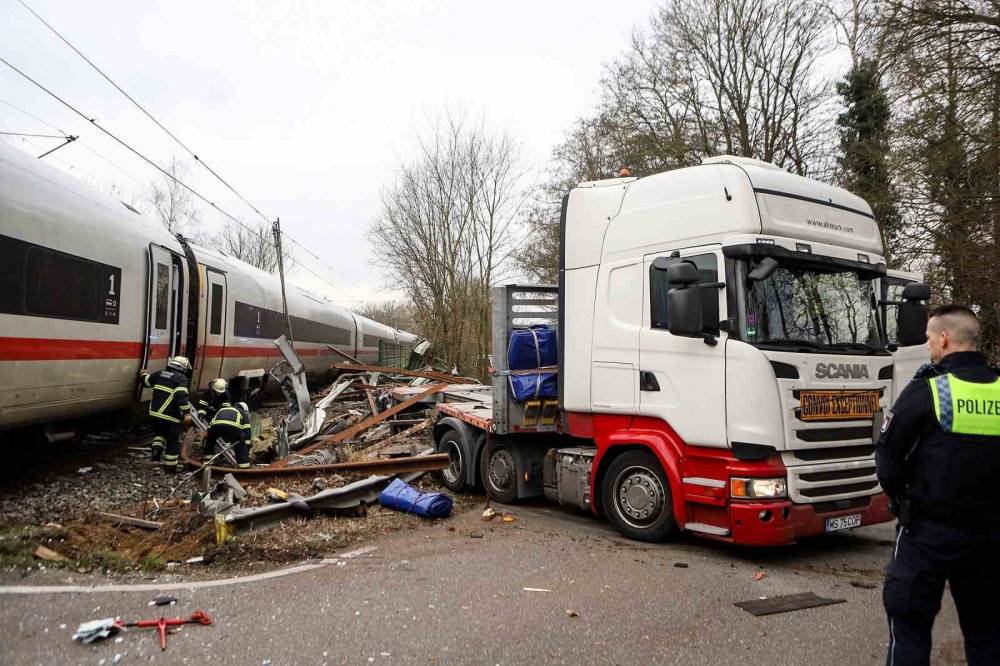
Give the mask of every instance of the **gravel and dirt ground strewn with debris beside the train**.
[{"label": "gravel and dirt ground strewn with debris beside the train", "polygon": [[[423,437],[430,442],[429,435]],[[185,475],[167,474],[148,459],[146,451],[135,450],[148,446],[149,440],[147,432],[128,430],[113,437],[36,448],[30,456],[22,452],[20,473],[8,469],[13,478],[0,486],[0,570],[18,579],[37,578],[53,568],[127,579],[164,573],[188,577],[245,573],[363,545],[376,535],[426,522],[375,505],[360,516],[290,520],[220,546],[212,521],[199,517],[188,501],[197,477],[178,487]],[[322,478],[324,486],[337,487],[362,477]],[[313,482],[307,477],[245,483],[248,495],[243,505],[266,504],[268,486],[309,496],[318,490]],[[415,485],[425,491],[442,490],[431,475]],[[173,499],[165,503],[175,488]],[[455,499],[456,512],[482,501],[470,496]],[[151,515],[157,506],[164,508]],[[116,527],[99,512],[151,518],[163,527],[157,531]],[[33,553],[39,545],[66,561],[38,559]],[[198,556],[204,561],[185,564]]]}]

